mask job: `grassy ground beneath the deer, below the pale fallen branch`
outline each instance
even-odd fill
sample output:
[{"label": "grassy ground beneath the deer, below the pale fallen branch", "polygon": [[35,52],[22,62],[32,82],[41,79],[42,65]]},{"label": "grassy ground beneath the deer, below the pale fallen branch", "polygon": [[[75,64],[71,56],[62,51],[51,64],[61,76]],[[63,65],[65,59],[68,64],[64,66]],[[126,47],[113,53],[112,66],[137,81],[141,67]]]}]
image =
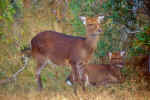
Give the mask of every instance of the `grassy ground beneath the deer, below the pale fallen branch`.
[{"label": "grassy ground beneath the deer, below the pale fallen branch", "polygon": [[[113,84],[108,87],[87,87],[82,91],[78,86],[78,95],[65,84],[65,78],[69,74],[67,67],[51,68],[47,66],[42,71],[43,91],[37,91],[34,69],[31,61],[29,66],[18,79],[12,83],[0,86],[0,100],[149,100],[150,91],[144,87],[144,83],[136,82],[134,74],[122,84]],[[30,70],[30,71],[29,71]]]}]

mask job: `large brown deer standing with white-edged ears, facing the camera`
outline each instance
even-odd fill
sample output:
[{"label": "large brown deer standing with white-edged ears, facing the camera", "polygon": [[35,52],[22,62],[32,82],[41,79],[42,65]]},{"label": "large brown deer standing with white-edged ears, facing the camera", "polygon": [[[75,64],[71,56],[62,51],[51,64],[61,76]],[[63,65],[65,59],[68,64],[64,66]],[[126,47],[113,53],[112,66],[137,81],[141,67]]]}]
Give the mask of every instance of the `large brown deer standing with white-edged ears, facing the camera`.
[{"label": "large brown deer standing with white-edged ears, facing the camera", "polygon": [[[104,16],[80,18],[86,27],[87,33],[85,37],[65,35],[55,31],[44,31],[31,40],[31,54],[37,61],[36,79],[40,90],[42,89],[40,73],[49,62],[62,66],[69,63],[72,67],[73,81],[76,82],[81,79],[81,68],[88,63],[96,49],[101,32],[100,22]],[[76,85],[74,85],[74,92],[76,92]]]}]

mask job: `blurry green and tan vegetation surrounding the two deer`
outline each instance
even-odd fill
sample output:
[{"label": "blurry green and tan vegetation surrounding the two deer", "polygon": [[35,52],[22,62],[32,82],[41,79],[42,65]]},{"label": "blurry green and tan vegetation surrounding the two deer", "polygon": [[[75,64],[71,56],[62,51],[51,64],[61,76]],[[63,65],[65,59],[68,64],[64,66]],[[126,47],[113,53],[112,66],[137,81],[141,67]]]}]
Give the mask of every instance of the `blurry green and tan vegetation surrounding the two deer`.
[{"label": "blurry green and tan vegetation surrounding the two deer", "polygon": [[[22,68],[21,50],[41,31],[55,30],[84,36],[79,16],[104,15],[103,34],[93,63],[108,63],[107,53],[125,50],[123,84],[90,87],[74,96],[65,84],[68,67],[42,71],[44,91],[36,91],[35,62],[11,82],[0,84],[1,100],[148,100],[150,99],[150,1],[149,0],[0,0],[0,80]],[[48,65],[50,66],[50,65]],[[1,83],[1,81],[0,81]]]}]

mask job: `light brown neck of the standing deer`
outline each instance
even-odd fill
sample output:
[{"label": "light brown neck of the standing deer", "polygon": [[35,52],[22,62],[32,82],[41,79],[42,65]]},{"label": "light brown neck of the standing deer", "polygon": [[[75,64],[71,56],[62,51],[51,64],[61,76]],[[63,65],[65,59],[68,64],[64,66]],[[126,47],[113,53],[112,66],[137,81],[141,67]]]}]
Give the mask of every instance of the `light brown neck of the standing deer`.
[{"label": "light brown neck of the standing deer", "polygon": [[99,40],[99,34],[97,33],[87,34],[86,36],[86,44],[89,48],[93,50],[96,49],[98,40]]}]

